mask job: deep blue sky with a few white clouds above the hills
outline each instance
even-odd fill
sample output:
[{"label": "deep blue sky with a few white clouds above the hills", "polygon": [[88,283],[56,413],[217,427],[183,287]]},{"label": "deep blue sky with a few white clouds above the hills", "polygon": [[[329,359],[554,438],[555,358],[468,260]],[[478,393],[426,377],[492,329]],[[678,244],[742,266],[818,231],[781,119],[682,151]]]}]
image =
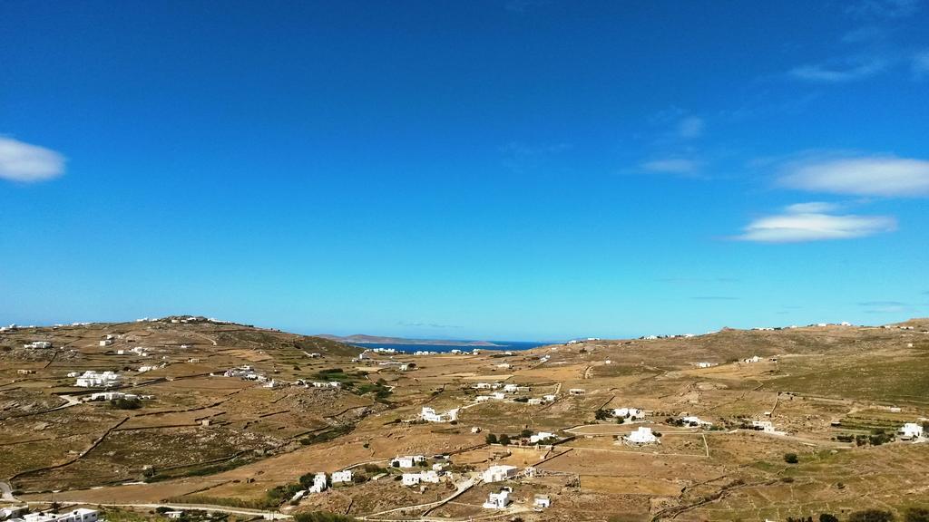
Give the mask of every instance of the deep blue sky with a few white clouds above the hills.
[{"label": "deep blue sky with a few white clouds above the hills", "polygon": [[0,320],[929,315],[929,6],[0,3]]}]

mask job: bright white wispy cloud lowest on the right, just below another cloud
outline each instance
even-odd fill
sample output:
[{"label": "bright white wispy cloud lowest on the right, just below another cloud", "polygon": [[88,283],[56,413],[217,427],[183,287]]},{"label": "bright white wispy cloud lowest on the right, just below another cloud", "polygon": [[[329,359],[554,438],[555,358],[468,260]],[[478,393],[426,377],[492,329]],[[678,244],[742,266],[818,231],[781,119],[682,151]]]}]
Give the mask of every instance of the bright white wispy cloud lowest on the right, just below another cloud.
[{"label": "bright white wispy cloud lowest on the right, just below another cloud", "polygon": [[755,219],[734,239],[771,243],[847,240],[896,230],[896,218],[889,215],[831,215],[795,210],[796,205],[791,205],[781,214]]}]

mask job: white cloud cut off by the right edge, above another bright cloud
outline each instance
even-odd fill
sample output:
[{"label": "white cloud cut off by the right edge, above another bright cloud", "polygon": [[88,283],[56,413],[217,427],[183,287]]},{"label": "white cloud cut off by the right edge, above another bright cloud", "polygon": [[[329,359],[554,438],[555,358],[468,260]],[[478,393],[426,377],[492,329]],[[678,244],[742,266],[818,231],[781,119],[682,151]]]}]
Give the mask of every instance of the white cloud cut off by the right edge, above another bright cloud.
[{"label": "white cloud cut off by the right edge, above another bright cloud", "polygon": [[929,196],[929,161],[870,156],[789,164],[779,183],[792,189],[858,196]]}]

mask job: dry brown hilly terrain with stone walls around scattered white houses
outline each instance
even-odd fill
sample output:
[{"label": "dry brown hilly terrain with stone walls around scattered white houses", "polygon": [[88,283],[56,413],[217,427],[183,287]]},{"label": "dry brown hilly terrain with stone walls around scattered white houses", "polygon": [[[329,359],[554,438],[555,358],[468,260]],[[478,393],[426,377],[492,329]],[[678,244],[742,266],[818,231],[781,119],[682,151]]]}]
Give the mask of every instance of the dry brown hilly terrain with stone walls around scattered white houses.
[{"label": "dry brown hilly terrain with stone walls around scattered white houses", "polygon": [[[897,434],[929,417],[929,320],[463,352],[364,352],[187,316],[7,329],[2,502],[526,521],[929,507],[929,443]],[[118,379],[75,386],[87,371]],[[130,395],[88,400],[104,391]],[[424,407],[457,419],[426,422]],[[653,443],[626,440],[641,428]],[[530,443],[540,432],[552,437]],[[445,475],[404,486],[403,455]],[[488,483],[491,465],[518,475]],[[347,469],[294,499],[307,476]],[[502,487],[512,503],[484,508]]]}]

